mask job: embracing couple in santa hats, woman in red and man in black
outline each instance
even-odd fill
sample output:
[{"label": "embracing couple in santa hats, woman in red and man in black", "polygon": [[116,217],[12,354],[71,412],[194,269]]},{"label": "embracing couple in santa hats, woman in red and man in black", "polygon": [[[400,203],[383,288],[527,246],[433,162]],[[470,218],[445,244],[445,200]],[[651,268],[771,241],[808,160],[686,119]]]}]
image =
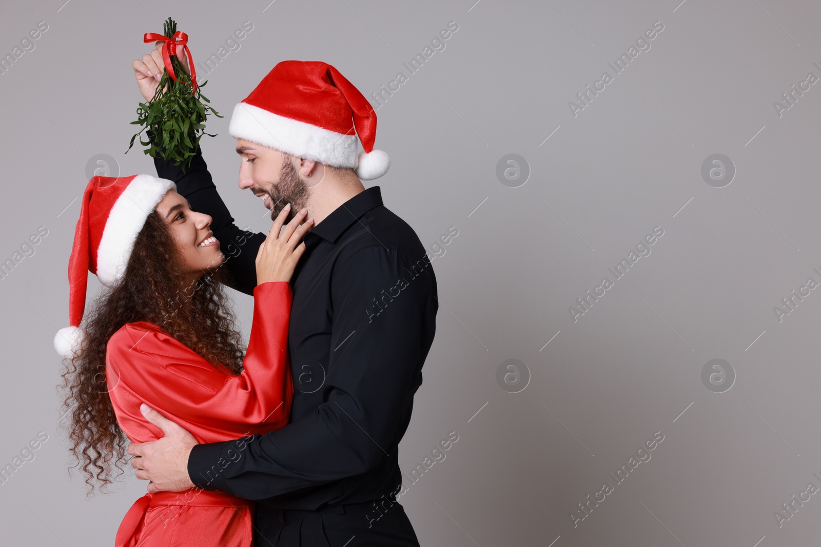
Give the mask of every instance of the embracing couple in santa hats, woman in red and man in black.
[{"label": "embracing couple in santa hats, woman in red and man in black", "polygon": [[[133,66],[150,101],[160,50]],[[234,224],[200,151],[185,170],[157,157],[158,176],[89,181],[55,347],[89,487],[112,481],[126,447],[149,481],[117,547],[419,545],[396,501],[397,446],[436,278],[414,230],[360,181],[388,171],[375,131],[333,66],[285,61],[229,127],[267,235]],[[86,312],[88,271],[104,289]],[[245,352],[225,286],[254,296]]]}]

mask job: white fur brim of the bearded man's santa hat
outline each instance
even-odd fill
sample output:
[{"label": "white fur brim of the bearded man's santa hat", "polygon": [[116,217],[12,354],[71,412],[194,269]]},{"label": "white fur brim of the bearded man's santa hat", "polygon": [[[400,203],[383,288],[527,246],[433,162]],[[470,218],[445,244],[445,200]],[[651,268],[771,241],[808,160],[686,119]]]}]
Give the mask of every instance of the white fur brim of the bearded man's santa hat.
[{"label": "white fur brim of the bearded man's santa hat", "polygon": [[296,157],[307,157],[333,167],[357,165],[355,134],[342,134],[279,116],[248,103],[236,103],[228,125],[236,139],[250,140]]}]

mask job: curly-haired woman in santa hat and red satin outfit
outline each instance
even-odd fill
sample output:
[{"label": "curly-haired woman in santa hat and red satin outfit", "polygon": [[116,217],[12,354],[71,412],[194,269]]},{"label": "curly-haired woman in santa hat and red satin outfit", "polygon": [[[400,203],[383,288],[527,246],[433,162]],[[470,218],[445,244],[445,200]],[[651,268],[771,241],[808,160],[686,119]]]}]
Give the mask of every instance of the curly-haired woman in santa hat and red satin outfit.
[{"label": "curly-haired woman in santa hat and red satin outfit", "polygon": [[[211,217],[191,211],[175,188],[171,180],[134,175],[96,176],[85,189],[69,261],[71,326],[57,333],[55,348],[70,359],[63,375],[68,433],[89,494],[112,482],[112,467],[122,475],[126,437],[163,436],[140,413],[142,403],[200,443],[264,433],[288,420],[288,281],[312,221],[299,225],[303,209],[282,230],[287,207],[259,248],[243,360]],[[88,271],[108,289],[80,329]],[[116,545],[247,547],[253,513],[250,501],[221,492],[147,494],[126,513]]]}]

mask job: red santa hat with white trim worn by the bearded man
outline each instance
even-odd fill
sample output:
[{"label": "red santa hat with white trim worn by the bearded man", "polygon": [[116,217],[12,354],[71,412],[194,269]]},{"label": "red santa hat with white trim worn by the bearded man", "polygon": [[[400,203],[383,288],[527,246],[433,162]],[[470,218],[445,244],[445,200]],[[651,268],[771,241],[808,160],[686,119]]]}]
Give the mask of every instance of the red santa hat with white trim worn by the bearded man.
[{"label": "red santa hat with white trim worn by the bearded man", "polygon": [[[363,152],[357,153],[356,134]],[[376,112],[359,89],[327,62],[282,61],[234,107],[228,133],[297,157],[353,167],[363,180],[388,172],[374,150]]]}]

